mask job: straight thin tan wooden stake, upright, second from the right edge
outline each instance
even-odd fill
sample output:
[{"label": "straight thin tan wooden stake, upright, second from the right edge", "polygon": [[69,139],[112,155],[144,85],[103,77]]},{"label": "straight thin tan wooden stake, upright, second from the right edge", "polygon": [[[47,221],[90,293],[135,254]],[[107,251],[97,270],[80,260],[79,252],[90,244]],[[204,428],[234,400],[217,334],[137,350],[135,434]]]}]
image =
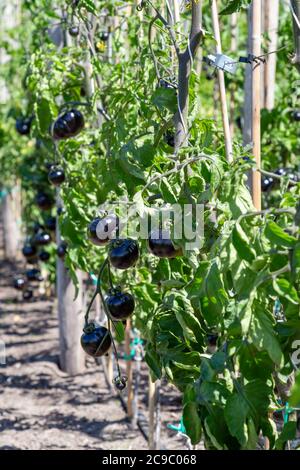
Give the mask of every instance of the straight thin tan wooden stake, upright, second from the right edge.
[{"label": "straight thin tan wooden stake, upright, second from the right edge", "polygon": [[[261,55],[261,0],[252,3],[252,54]],[[253,155],[257,169],[261,168],[261,70],[258,64],[252,69],[252,141]],[[252,173],[252,198],[255,208],[261,210],[261,175],[255,170]]]}]

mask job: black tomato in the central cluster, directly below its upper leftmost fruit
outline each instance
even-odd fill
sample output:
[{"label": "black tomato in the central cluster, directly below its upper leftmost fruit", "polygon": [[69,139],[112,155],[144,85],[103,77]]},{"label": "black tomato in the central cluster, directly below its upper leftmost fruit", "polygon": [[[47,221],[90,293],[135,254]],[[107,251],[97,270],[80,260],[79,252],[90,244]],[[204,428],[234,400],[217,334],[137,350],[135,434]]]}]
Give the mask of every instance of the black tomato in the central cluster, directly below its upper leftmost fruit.
[{"label": "black tomato in the central cluster, directly below its upper leftmost fruit", "polygon": [[117,269],[128,269],[139,259],[139,246],[135,240],[113,240],[109,246],[109,261]]}]

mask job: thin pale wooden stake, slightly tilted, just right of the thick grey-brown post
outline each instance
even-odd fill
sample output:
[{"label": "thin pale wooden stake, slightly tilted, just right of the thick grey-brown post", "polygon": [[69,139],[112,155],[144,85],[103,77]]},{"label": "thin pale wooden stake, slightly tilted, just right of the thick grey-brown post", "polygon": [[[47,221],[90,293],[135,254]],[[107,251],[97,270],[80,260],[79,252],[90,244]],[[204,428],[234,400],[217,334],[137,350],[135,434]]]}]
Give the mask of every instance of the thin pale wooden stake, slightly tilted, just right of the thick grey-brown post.
[{"label": "thin pale wooden stake, slightly tilted, just right of the thick grey-brown post", "polygon": [[[221,33],[220,33],[220,24],[218,16],[218,6],[217,0],[212,0],[212,20],[213,20],[213,30],[216,40],[216,52],[217,54],[222,54],[222,45],[221,45]],[[225,150],[226,158],[229,162],[232,161],[232,140],[230,135],[230,126],[229,126],[229,116],[226,100],[226,88],[225,88],[225,76],[223,70],[218,69],[218,81],[219,81],[219,90],[220,90],[220,100],[221,100],[221,112],[222,112],[222,121],[225,137]]]}]

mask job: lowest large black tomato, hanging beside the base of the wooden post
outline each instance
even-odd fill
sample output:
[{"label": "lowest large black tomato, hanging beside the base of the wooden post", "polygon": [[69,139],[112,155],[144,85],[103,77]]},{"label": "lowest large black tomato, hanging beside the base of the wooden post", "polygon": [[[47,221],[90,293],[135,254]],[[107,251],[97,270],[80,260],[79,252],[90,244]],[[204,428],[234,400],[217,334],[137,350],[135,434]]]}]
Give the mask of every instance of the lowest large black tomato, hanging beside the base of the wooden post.
[{"label": "lowest large black tomato, hanging beside the base of the wooden post", "polygon": [[107,328],[89,323],[81,336],[83,350],[92,357],[100,357],[107,353],[111,346],[111,337]]}]

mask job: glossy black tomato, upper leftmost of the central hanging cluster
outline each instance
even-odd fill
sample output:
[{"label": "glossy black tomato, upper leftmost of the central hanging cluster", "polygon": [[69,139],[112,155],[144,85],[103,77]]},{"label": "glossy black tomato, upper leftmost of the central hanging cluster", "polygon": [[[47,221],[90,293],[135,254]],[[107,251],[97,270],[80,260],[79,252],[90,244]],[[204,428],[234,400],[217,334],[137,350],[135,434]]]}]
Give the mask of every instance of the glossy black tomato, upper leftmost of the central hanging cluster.
[{"label": "glossy black tomato, upper leftmost of the central hanging cluster", "polygon": [[88,226],[88,238],[94,245],[106,245],[119,228],[119,218],[114,214],[96,217]]}]

